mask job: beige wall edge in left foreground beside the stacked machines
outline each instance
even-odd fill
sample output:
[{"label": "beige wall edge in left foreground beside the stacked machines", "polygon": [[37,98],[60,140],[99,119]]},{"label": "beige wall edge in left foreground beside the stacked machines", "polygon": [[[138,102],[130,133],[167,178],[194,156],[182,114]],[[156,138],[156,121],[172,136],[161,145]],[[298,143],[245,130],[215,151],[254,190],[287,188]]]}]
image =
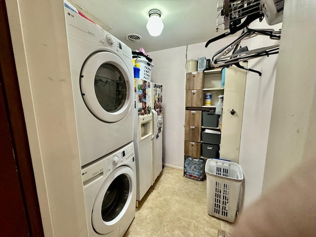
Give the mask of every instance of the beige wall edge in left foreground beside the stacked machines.
[{"label": "beige wall edge in left foreground beside the stacked machines", "polygon": [[6,0],[45,237],[87,237],[63,0]]}]

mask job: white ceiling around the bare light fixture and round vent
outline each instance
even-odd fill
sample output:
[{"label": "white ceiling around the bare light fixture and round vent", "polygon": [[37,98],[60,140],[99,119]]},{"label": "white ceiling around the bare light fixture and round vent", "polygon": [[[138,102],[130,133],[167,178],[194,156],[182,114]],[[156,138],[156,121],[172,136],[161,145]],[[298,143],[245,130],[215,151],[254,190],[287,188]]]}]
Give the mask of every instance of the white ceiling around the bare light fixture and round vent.
[{"label": "white ceiling around the bare light fixture and round vent", "polygon": [[[74,0],[77,8],[102,28],[126,43],[132,50],[146,52],[205,42],[216,33],[217,0]],[[71,2],[71,3],[73,3]],[[146,29],[148,11],[158,8],[164,24],[160,36]],[[90,14],[89,14],[90,13]],[[111,29],[112,28],[112,29]],[[139,42],[125,40],[127,34],[142,37]]]}]

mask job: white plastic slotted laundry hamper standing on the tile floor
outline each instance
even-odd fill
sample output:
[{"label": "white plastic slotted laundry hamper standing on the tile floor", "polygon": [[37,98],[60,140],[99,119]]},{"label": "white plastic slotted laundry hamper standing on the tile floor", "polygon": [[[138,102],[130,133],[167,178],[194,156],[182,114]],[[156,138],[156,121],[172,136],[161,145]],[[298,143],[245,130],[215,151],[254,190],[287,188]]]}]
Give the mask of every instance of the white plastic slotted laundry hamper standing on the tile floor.
[{"label": "white plastic slotted laundry hamper standing on the tile floor", "polygon": [[241,201],[243,174],[240,165],[221,159],[207,159],[205,173],[207,213],[233,223],[238,202]]}]

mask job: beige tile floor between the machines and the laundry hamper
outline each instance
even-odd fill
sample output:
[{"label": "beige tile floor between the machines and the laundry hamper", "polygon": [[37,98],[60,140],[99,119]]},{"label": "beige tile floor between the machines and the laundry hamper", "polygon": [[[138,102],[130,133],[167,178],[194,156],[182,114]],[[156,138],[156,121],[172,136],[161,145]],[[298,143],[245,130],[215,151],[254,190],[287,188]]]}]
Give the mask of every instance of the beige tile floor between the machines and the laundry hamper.
[{"label": "beige tile floor between the machines and the laundry hamper", "polygon": [[211,217],[206,207],[206,180],[183,177],[182,170],[164,167],[136,208],[124,237],[217,237],[233,224]]}]

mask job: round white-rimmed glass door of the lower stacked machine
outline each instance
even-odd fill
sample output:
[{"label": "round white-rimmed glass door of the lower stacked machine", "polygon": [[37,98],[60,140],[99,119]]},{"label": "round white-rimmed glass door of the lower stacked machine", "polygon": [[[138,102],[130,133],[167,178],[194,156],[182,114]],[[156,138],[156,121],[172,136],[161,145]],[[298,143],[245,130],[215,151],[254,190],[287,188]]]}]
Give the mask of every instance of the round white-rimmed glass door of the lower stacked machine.
[{"label": "round white-rimmed glass door of the lower stacked machine", "polygon": [[105,235],[118,228],[135,188],[135,174],[128,166],[118,167],[105,179],[92,210],[92,226],[97,233]]}]

